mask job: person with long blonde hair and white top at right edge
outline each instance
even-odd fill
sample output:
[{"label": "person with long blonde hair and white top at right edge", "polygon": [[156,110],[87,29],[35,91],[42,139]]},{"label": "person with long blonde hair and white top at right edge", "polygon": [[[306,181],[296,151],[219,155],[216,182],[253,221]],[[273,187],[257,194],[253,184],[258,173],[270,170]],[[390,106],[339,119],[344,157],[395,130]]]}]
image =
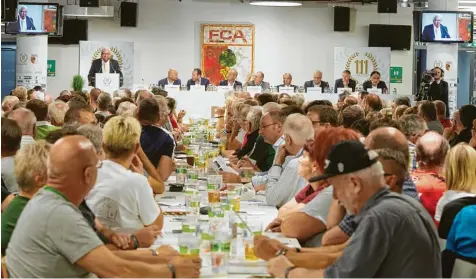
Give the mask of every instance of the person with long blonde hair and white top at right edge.
[{"label": "person with long blonde hair and white top at right edge", "polygon": [[446,192],[436,205],[435,220],[441,220],[445,205],[462,197],[476,196],[476,150],[466,144],[457,145],[445,160]]}]

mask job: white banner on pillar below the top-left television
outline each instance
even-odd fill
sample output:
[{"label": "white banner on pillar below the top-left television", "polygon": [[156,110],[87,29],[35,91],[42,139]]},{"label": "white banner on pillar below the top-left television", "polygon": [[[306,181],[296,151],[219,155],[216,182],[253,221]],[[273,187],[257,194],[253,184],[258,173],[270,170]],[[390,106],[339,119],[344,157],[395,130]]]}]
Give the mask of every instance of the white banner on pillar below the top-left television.
[{"label": "white banner on pillar below the top-left television", "polygon": [[16,50],[16,86],[46,88],[48,36],[19,36]]}]

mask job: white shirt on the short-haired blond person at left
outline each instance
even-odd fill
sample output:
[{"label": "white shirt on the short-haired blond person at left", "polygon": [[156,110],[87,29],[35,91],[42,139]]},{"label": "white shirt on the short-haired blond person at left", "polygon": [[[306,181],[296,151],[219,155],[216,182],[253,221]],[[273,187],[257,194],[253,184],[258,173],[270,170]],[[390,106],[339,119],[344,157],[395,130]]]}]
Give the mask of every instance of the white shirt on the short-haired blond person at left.
[{"label": "white shirt on the short-haired blond person at left", "polygon": [[147,178],[105,160],[86,203],[99,221],[109,228],[141,229],[160,214]]}]

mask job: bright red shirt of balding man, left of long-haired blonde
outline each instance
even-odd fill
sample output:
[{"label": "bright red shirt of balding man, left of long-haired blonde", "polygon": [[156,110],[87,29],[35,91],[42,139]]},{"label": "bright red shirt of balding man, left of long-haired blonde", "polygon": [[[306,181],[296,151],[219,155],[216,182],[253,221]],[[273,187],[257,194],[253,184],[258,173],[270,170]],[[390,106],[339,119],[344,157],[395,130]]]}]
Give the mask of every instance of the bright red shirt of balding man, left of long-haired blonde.
[{"label": "bright red shirt of balding man, left of long-haired blonde", "polygon": [[411,178],[420,194],[421,204],[434,218],[436,205],[446,191],[445,178],[435,171],[420,169],[414,170]]}]

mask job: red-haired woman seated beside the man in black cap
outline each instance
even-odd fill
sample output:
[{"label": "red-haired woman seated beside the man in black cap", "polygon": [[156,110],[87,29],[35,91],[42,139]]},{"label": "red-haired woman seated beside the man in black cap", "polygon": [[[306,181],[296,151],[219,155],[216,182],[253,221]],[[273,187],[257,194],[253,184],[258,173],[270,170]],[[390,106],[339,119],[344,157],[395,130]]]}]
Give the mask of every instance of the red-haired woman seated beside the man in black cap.
[{"label": "red-haired woman seated beside the man in black cap", "polygon": [[[314,136],[314,142],[304,147],[299,166],[299,175],[309,180],[309,178],[324,173],[325,160],[329,149],[334,144],[344,140],[359,140],[359,134],[353,130],[345,128],[329,127]],[[278,218],[285,219],[294,212],[300,211],[324,188],[329,186],[327,181],[310,183],[304,187],[291,201],[279,209]]]}]

